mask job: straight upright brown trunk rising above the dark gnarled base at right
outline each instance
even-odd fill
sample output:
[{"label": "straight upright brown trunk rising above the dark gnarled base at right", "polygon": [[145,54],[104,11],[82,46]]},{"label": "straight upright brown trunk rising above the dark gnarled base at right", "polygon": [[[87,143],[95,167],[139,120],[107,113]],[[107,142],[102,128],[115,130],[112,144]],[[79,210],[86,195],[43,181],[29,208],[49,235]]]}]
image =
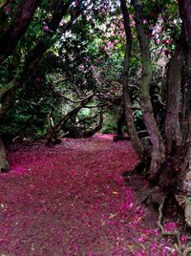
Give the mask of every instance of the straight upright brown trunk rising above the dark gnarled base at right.
[{"label": "straight upright brown trunk rising above the dark gnarled base at right", "polygon": [[180,85],[184,56],[184,45],[182,44],[182,38],[180,38],[168,67],[168,94],[165,117],[165,139],[168,153],[172,151],[172,146],[180,146],[182,143],[180,127]]}]

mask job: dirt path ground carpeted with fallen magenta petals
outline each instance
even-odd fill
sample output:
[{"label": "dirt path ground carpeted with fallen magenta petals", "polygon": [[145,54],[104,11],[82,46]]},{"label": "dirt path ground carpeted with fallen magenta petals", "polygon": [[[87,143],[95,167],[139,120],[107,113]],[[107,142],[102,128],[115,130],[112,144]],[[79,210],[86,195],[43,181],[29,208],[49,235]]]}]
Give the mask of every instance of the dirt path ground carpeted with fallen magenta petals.
[{"label": "dirt path ground carpeted with fallen magenta petals", "polygon": [[157,213],[139,203],[146,181],[122,180],[138,161],[129,141],[63,139],[19,146],[9,159],[11,172],[0,175],[1,256],[176,255]]}]

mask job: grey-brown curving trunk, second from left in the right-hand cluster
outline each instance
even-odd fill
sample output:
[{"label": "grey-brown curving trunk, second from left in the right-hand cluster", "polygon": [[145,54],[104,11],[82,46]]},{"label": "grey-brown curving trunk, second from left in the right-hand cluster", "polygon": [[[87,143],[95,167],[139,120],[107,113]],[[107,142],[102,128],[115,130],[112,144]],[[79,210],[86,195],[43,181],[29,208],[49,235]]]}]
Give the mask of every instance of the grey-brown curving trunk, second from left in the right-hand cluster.
[{"label": "grey-brown curving trunk, second from left in the right-hand cluster", "polygon": [[164,162],[164,143],[159,133],[159,128],[153,114],[153,107],[149,95],[152,82],[152,66],[146,34],[144,32],[142,5],[139,0],[133,0],[132,4],[136,11],[136,29],[141,50],[142,81],[139,89],[139,99],[145,126],[152,142],[152,156],[149,168],[151,180],[159,176],[159,167]]}]

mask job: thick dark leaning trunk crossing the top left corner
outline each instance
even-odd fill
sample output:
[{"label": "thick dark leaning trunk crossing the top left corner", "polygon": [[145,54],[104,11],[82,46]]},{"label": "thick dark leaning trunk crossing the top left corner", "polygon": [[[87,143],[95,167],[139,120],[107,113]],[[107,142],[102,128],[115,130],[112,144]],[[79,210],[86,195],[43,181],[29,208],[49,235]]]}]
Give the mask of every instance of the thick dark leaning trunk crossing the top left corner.
[{"label": "thick dark leaning trunk crossing the top left corner", "polygon": [[0,38],[0,60],[10,55],[15,49],[18,41],[23,37],[32,21],[40,0],[20,1],[11,22],[11,27],[4,32]]}]

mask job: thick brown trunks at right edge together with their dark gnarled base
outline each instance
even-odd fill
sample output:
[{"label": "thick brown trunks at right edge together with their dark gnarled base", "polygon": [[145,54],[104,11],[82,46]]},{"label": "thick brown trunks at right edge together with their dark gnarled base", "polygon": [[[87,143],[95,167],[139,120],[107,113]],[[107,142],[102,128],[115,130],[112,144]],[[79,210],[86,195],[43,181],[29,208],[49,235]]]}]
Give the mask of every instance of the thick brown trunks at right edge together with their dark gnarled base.
[{"label": "thick brown trunks at right edge together with their dark gnarled base", "polygon": [[[191,226],[191,6],[188,0],[178,0],[178,2],[184,28],[182,35],[185,35],[186,45],[184,38],[180,38],[169,63],[168,105],[165,120],[168,155],[160,167],[159,183],[167,193],[172,192],[175,195],[184,209],[185,223]],[[186,50],[187,54],[185,54]],[[187,55],[186,63],[185,55]],[[184,74],[182,72],[184,64],[187,65],[186,75],[185,71]],[[186,142],[184,139],[187,139]],[[173,143],[175,146],[172,150]]]}]

